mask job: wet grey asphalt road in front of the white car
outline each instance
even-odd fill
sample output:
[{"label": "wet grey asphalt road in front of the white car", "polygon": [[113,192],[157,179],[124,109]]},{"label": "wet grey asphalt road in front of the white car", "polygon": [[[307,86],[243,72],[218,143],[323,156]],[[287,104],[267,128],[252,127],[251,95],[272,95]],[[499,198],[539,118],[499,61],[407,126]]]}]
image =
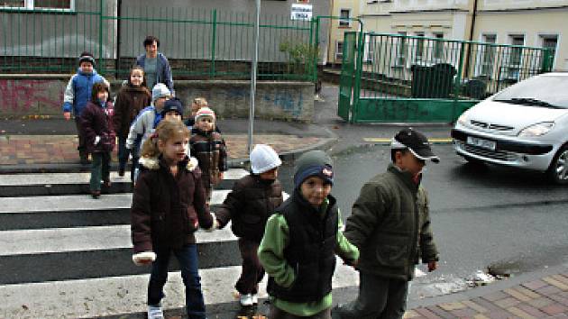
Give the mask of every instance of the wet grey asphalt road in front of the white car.
[{"label": "wet grey asphalt road in front of the white car", "polygon": [[[427,164],[423,183],[440,269],[415,280],[409,302],[463,290],[477,270],[491,267],[515,275],[568,262],[568,187],[550,185],[538,173],[466,165],[449,144],[434,150],[441,162]],[[363,183],[388,163],[384,145],[334,156],[332,194],[344,218]],[[289,192],[291,170],[289,165],[280,169]]]}]

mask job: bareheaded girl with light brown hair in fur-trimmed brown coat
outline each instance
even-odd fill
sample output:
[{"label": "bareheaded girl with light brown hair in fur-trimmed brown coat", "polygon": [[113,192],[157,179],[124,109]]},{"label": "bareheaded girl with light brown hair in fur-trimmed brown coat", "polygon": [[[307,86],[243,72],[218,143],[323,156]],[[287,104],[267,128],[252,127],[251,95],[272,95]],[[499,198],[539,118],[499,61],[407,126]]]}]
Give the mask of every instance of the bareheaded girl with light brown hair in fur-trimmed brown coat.
[{"label": "bareheaded girl with light brown hair in fur-trimmed brown coat", "polygon": [[199,227],[213,230],[217,225],[206,206],[197,160],[188,158],[188,141],[184,123],[161,121],[142,146],[131,216],[133,262],[152,264],[148,318],[163,318],[160,301],[172,253],[186,287],[188,318],[206,315],[194,232]]}]

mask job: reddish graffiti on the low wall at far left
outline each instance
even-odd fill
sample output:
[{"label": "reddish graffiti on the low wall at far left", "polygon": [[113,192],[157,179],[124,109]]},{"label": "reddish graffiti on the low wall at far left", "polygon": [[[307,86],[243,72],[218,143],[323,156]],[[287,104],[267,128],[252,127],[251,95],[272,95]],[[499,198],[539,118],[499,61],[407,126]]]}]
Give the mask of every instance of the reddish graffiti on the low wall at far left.
[{"label": "reddish graffiti on the low wall at far left", "polygon": [[64,90],[59,80],[0,79],[0,113],[59,113]]}]

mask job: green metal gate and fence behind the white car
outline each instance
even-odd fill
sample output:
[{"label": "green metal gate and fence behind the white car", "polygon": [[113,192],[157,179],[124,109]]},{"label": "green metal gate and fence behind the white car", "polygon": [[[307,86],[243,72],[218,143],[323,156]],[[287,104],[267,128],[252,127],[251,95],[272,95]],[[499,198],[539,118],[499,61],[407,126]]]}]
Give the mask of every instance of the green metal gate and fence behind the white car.
[{"label": "green metal gate and fence behind the white car", "polygon": [[[342,69],[342,76],[361,75],[354,78],[361,89],[353,92],[348,106],[353,122],[453,122],[479,100],[550,71],[554,61],[554,51],[545,48],[404,34],[357,35],[363,40],[356,51],[359,63],[353,70]],[[352,38],[346,34],[344,43]],[[351,59],[346,62],[350,65]]]}]

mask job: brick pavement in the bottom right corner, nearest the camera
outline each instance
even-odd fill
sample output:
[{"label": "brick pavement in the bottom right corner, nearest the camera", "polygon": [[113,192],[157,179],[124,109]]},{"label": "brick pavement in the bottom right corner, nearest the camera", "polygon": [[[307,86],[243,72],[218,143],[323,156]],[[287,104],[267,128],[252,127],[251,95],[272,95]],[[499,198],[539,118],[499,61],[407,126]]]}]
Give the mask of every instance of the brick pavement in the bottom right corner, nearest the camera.
[{"label": "brick pavement in the bottom right corner, nearest the camera", "polygon": [[484,296],[417,307],[404,318],[568,319],[568,270]]}]

